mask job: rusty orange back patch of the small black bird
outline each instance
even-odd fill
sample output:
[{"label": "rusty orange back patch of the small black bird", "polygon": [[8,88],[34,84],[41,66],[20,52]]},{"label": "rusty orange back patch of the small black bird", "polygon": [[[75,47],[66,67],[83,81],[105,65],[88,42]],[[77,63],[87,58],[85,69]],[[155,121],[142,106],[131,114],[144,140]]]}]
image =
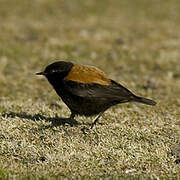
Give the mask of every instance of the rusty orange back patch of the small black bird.
[{"label": "rusty orange back patch of the small black bird", "polygon": [[111,81],[100,69],[80,64],[74,64],[71,71],[65,77],[65,80],[81,83],[97,83],[101,85],[109,85]]}]

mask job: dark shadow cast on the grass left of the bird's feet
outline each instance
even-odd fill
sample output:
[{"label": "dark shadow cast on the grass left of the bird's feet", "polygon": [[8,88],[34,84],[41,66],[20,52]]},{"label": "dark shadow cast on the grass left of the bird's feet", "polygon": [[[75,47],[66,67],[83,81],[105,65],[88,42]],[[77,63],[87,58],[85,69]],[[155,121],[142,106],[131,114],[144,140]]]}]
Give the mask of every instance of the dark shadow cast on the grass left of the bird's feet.
[{"label": "dark shadow cast on the grass left of the bird's feet", "polygon": [[26,112],[8,112],[8,113],[3,113],[2,117],[4,118],[15,118],[15,117],[19,117],[19,118],[23,118],[23,119],[28,119],[28,120],[32,120],[32,121],[42,121],[45,120],[47,122],[51,122],[51,126],[61,126],[61,125],[65,125],[65,124],[69,124],[70,126],[78,126],[81,123],[79,123],[78,121],[76,121],[75,119],[72,118],[63,118],[63,117],[46,117],[43,116],[41,114],[27,114]]}]

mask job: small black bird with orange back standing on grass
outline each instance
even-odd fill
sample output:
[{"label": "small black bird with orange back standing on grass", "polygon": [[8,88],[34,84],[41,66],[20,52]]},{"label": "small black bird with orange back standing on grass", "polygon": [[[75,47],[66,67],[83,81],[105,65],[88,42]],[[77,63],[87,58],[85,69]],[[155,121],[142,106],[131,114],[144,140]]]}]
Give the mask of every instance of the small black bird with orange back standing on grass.
[{"label": "small black bird with orange back standing on grass", "polygon": [[70,109],[70,119],[74,119],[76,115],[96,115],[91,128],[111,106],[128,102],[156,105],[151,99],[136,96],[95,66],[56,61],[36,75],[47,78]]}]

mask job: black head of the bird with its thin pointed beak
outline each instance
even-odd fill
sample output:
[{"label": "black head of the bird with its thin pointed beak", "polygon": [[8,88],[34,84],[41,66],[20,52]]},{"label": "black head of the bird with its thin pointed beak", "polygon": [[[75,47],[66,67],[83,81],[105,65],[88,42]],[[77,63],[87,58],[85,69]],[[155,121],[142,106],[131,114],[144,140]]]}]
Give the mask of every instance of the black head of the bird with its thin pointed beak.
[{"label": "black head of the bird with its thin pointed beak", "polygon": [[73,63],[71,62],[57,61],[48,65],[43,72],[36,73],[36,75],[44,75],[47,78],[64,78],[71,70],[72,66]]}]

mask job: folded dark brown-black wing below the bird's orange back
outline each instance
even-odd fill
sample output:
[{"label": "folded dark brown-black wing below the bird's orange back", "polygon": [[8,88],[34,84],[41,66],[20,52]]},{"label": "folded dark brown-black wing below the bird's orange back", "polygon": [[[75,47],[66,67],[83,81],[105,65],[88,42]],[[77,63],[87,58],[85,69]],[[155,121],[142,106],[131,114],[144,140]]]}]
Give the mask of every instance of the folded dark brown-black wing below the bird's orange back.
[{"label": "folded dark brown-black wing below the bird's orange back", "polygon": [[111,80],[110,85],[97,83],[77,83],[72,80],[64,80],[64,88],[71,94],[85,98],[109,98],[113,100],[128,100],[132,93]]}]

